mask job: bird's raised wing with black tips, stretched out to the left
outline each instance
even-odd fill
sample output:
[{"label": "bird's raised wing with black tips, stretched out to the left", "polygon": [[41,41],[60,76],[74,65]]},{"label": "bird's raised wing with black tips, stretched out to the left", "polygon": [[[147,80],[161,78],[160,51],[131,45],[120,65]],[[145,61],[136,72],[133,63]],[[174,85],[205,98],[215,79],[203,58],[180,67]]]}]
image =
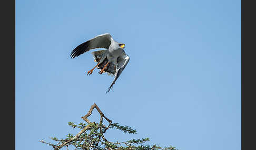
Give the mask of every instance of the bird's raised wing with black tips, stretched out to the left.
[{"label": "bird's raised wing with black tips, stretched out to the left", "polygon": [[83,42],[82,44],[78,45],[75,49],[71,52],[71,58],[75,58],[82,53],[89,51],[90,49],[95,48],[106,48],[108,49],[111,44],[111,35],[110,34],[102,34],[99,36],[96,36],[86,42]]}]

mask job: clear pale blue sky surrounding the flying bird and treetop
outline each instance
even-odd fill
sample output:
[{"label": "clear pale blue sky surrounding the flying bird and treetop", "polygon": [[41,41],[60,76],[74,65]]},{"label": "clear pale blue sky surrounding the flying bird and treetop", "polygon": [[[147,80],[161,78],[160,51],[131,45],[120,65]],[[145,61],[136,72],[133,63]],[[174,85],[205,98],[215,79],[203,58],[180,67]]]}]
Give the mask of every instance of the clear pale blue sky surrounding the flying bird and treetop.
[{"label": "clear pale blue sky surrounding the flying bird and treetop", "polygon": [[[131,57],[107,94],[91,52],[70,59],[104,33]],[[111,140],[241,149],[241,1],[16,1],[15,64],[16,149],[52,149],[38,141],[76,133],[93,103],[138,132]]]}]

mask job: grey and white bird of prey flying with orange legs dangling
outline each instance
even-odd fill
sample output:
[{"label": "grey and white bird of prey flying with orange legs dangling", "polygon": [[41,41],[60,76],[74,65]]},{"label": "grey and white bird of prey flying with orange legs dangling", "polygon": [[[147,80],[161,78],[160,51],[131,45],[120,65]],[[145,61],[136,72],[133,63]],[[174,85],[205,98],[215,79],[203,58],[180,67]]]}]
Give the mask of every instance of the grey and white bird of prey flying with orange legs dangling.
[{"label": "grey and white bird of prey flying with orange legs dangling", "polygon": [[[113,90],[113,85],[117,78],[126,67],[130,60],[130,57],[125,53],[125,44],[115,41],[110,34],[98,35],[82,44],[78,45],[71,52],[71,58],[80,56],[86,51],[95,48],[105,48],[104,50],[94,51],[92,55],[97,65],[87,72],[87,75],[91,75],[95,68],[101,69],[100,74],[107,72],[108,75],[115,76],[112,84],[110,85],[107,92],[110,89]],[[106,93],[107,93],[106,92]]]}]

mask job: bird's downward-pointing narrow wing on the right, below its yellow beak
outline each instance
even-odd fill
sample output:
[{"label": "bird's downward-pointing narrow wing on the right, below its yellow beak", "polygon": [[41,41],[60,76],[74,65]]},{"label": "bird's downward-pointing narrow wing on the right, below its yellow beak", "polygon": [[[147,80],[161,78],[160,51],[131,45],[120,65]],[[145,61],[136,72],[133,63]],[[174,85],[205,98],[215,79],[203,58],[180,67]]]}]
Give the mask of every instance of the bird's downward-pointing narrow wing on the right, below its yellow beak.
[{"label": "bird's downward-pointing narrow wing on the right, below its yellow beak", "polygon": [[112,84],[110,85],[109,89],[107,89],[107,92],[109,92],[110,89],[113,90],[113,85],[115,84],[115,81],[117,80],[117,78],[119,78],[120,74],[123,72],[129,60],[130,60],[130,57],[125,52],[123,52],[123,54],[119,58],[117,58],[115,78]]}]

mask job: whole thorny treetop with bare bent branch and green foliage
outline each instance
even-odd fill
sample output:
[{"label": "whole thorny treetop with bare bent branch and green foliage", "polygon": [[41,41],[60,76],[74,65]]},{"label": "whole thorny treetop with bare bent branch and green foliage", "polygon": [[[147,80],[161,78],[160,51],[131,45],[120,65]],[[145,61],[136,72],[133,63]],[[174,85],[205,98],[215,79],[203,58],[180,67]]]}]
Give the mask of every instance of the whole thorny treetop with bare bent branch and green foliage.
[{"label": "whole thorny treetop with bare bent branch and green foliage", "polygon": [[[92,114],[93,109],[96,108],[96,110],[100,113],[100,122],[95,123],[91,122],[88,120],[88,117]],[[116,128],[117,130],[121,130],[124,133],[129,133],[129,134],[136,134],[136,130],[133,130],[129,126],[121,126],[117,123],[112,123],[110,119],[108,119],[100,110],[100,108],[94,103],[88,113],[85,116],[81,117],[87,125],[84,123],[80,123],[79,125],[75,125],[74,123],[69,122],[68,125],[71,125],[73,128],[78,127],[81,128],[82,130],[78,132],[75,136],[68,134],[68,138],[66,139],[57,139],[57,138],[51,138],[54,141],[57,141],[58,144],[52,144],[45,142],[41,140],[40,142],[45,143],[47,145],[50,145],[54,148],[54,150],[61,149],[62,147],[66,148],[69,145],[73,145],[76,148],[75,149],[83,149],[83,150],[88,150],[88,149],[100,149],[100,150],[113,150],[113,149],[120,149],[120,150],[129,150],[129,149],[143,149],[143,150],[156,150],[156,149],[164,149],[164,150],[177,150],[175,147],[165,147],[162,148],[160,146],[156,145],[142,145],[146,141],[149,141],[149,138],[142,138],[142,139],[132,139],[130,141],[126,142],[109,142],[106,140],[104,137],[104,133],[109,129],[109,128]],[[103,123],[103,119],[109,122],[109,126],[105,126]],[[98,132],[99,131],[99,132]],[[101,140],[102,139],[102,140]],[[99,145],[100,143],[100,145]],[[140,145],[138,145],[140,144]]]}]

